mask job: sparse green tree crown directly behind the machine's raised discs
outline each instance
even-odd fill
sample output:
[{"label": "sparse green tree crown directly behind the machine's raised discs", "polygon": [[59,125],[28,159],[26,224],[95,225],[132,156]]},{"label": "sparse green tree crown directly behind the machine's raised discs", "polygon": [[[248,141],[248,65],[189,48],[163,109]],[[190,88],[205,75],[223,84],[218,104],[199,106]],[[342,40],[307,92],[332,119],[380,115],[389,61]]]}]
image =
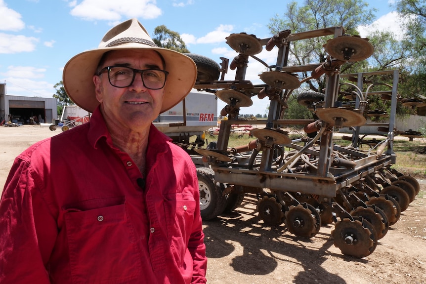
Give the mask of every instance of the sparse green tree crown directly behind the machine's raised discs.
[{"label": "sparse green tree crown directly behind the machine's raised discs", "polygon": [[[342,26],[346,34],[357,35],[356,28],[369,24],[374,19],[376,9],[368,8],[368,3],[362,0],[304,0],[301,6],[293,1],[287,4],[287,11],[280,17],[276,15],[270,19],[267,27],[271,34],[277,34],[283,30],[291,30],[292,33],[306,32],[329,27]],[[333,36],[307,39],[290,42],[288,65],[306,65],[321,63],[326,59],[323,44]],[[345,68],[362,63],[350,63]],[[301,78],[307,78],[307,72],[301,74]],[[321,91],[325,87],[323,77],[317,80],[307,81],[309,88]]]}]

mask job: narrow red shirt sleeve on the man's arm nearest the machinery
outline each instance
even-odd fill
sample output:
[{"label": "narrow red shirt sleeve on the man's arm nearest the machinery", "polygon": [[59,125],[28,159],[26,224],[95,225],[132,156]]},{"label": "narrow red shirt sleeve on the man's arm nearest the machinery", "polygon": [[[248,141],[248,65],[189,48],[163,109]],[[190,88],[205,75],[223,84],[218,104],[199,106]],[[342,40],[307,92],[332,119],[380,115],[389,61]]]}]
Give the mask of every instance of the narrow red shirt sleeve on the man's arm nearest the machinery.
[{"label": "narrow red shirt sleeve on the man's arm nearest the machinery", "polygon": [[[195,166],[192,168],[193,175],[193,192],[194,200],[200,200],[200,192],[198,189],[198,179]],[[200,203],[197,202],[196,210],[194,214],[194,223],[191,237],[188,243],[188,249],[192,255],[194,268],[191,284],[205,284],[206,281],[206,270],[207,270],[207,257],[206,257],[206,245],[204,243],[204,233],[202,229],[202,219],[200,214]]]}]

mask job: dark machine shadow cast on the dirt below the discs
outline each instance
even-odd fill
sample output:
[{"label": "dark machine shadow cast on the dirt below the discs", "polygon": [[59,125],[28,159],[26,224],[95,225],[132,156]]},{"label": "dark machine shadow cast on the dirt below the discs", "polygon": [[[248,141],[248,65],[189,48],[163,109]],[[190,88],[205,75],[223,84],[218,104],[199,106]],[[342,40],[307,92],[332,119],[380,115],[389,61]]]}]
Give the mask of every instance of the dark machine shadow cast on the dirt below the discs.
[{"label": "dark machine shadow cast on the dirt below the discs", "polygon": [[[330,234],[323,230],[312,239],[304,239],[287,231],[286,226],[265,227],[256,212],[256,197],[246,195],[240,207],[228,214],[203,222],[208,258],[234,255],[229,266],[247,275],[267,275],[276,269],[286,273],[287,262],[298,264],[293,283],[309,283],[321,279],[326,283],[346,283],[340,276],[321,267],[329,256],[347,258],[351,262],[368,262],[329,250],[333,246]],[[332,226],[332,225],[331,225]],[[324,226],[327,227],[327,226]],[[321,247],[318,243],[323,243]],[[241,251],[242,250],[242,251]],[[284,265],[283,265],[284,263]]]}]

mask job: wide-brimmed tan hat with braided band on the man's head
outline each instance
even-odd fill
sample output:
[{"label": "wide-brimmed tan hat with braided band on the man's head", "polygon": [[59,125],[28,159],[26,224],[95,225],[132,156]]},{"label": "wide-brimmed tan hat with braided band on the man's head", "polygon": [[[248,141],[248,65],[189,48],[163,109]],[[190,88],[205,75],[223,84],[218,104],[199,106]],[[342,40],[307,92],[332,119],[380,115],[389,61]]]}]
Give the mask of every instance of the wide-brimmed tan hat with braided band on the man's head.
[{"label": "wide-brimmed tan hat with braided band on the man's head", "polygon": [[194,86],[197,79],[194,61],[177,51],[158,47],[139,21],[130,19],[109,30],[97,49],[77,54],[65,65],[64,88],[75,104],[91,113],[96,109],[99,102],[95,96],[93,75],[105,52],[120,49],[151,49],[163,56],[169,75],[161,113],[183,100]]}]

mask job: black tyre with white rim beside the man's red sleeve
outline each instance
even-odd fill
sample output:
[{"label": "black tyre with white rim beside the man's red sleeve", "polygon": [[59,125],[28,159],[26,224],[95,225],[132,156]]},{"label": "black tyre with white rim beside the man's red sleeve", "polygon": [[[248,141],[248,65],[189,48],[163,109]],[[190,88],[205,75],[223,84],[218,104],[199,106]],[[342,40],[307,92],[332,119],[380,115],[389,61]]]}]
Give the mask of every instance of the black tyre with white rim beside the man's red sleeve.
[{"label": "black tyre with white rim beside the man's red sleeve", "polygon": [[201,218],[205,221],[211,220],[225,209],[226,197],[222,194],[224,186],[214,182],[214,171],[209,167],[197,168],[197,177]]}]

